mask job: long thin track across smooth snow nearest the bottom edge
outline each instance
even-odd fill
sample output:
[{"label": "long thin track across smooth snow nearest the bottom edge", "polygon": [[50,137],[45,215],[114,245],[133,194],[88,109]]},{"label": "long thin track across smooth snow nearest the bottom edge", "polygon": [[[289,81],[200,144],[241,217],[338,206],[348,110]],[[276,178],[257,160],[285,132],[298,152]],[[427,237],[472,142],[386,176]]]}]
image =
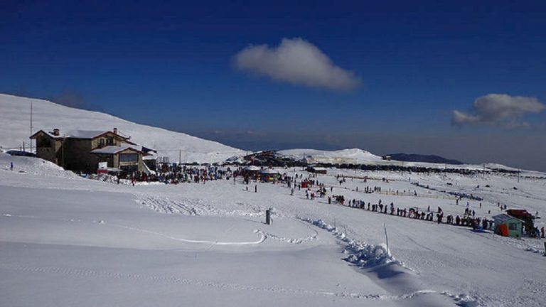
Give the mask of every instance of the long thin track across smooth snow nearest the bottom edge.
[{"label": "long thin track across smooth snow nearest the bottom edge", "polygon": [[276,294],[296,294],[308,296],[337,296],[343,298],[369,299],[369,300],[405,300],[414,298],[420,295],[436,293],[432,290],[415,291],[405,293],[400,296],[390,296],[375,293],[354,293],[343,291],[326,291],[326,290],[309,290],[309,289],[292,289],[282,286],[253,286],[244,284],[232,284],[218,281],[206,281],[202,279],[186,279],[180,276],[154,276],[146,274],[124,274],[114,271],[97,271],[94,269],[85,268],[65,268],[59,266],[26,266],[26,265],[11,265],[0,264],[0,269],[11,271],[25,271],[29,273],[40,274],[63,274],[69,276],[78,276],[82,278],[100,278],[100,279],[122,279],[127,281],[151,281],[168,284],[183,284],[188,286],[201,286],[216,290],[232,290],[232,291],[261,291]]}]

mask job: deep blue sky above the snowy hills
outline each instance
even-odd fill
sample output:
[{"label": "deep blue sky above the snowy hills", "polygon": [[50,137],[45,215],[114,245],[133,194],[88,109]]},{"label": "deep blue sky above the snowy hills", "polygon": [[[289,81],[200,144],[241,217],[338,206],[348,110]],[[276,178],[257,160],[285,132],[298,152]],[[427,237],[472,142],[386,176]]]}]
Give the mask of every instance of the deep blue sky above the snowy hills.
[{"label": "deep blue sky above the snowy hills", "polygon": [[[545,1],[106,2],[3,1],[0,92],[244,149],[360,147],[546,170]],[[257,73],[267,58],[235,64],[283,39],[317,48],[358,85]],[[473,107],[480,97],[486,107]]]}]

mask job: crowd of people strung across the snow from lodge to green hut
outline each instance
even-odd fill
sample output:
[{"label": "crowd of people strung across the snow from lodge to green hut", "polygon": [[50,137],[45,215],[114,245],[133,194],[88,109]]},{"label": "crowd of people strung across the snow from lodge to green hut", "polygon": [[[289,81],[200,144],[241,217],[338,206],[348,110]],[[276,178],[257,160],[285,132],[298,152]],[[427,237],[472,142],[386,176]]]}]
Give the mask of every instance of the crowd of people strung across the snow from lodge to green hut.
[{"label": "crowd of people strung across the snow from lodge to green hut", "polygon": [[[146,173],[133,173],[130,178],[132,183],[135,181],[159,181],[162,183],[168,184],[177,184],[177,183],[206,183],[207,181],[215,180],[230,180],[233,178],[235,183],[235,178],[242,177],[243,182],[247,185],[250,185],[250,181],[260,181],[262,178],[257,173],[248,173],[244,168],[237,168],[232,170],[228,168],[220,168],[218,166],[181,166],[181,165],[161,165],[155,174],[149,175]],[[346,183],[346,178],[344,176],[336,176],[337,181],[342,185]],[[414,220],[423,220],[429,222],[437,222],[438,224],[446,225],[455,225],[461,227],[472,227],[474,230],[493,230],[494,222],[486,217],[476,217],[476,210],[472,210],[469,206],[469,202],[466,202],[466,208],[464,212],[461,212],[460,215],[445,215],[444,210],[438,207],[436,210],[431,210],[430,206],[427,206],[427,209],[419,209],[417,207],[412,208],[398,208],[395,206],[395,203],[385,204],[382,203],[382,200],[379,199],[377,203],[366,203],[364,200],[352,199],[347,200],[344,195],[333,195],[333,186],[328,190],[332,195],[328,195],[328,190],[324,183],[320,183],[316,179],[316,174],[310,174],[309,176],[304,177],[303,173],[294,173],[293,176],[289,176],[287,173],[283,173],[274,176],[274,183],[285,184],[287,188],[291,189],[290,195],[294,195],[294,190],[301,190],[304,188],[306,199],[314,200],[315,198],[328,198],[328,204],[332,202],[338,203],[340,205],[346,205],[350,208],[358,208],[362,210],[368,210],[370,212],[378,212],[385,215],[392,215],[397,217],[407,217]],[[382,179],[384,182],[388,182],[385,178]],[[366,182],[366,180],[364,181]],[[429,190],[434,190],[429,188],[427,185],[420,185],[419,183],[413,183],[422,188],[427,188]],[[390,189],[389,189],[390,190]],[[355,191],[358,192],[358,187],[355,188]],[[257,185],[254,186],[254,192],[257,193]],[[379,185],[366,186],[362,193],[371,194],[371,193],[381,193],[382,187]],[[405,194],[406,191],[404,191]],[[410,190],[407,191],[410,193]],[[417,195],[417,191],[412,191],[412,195]],[[397,190],[395,195],[399,194]],[[463,198],[469,198],[471,200],[482,200],[475,195],[467,195],[464,193],[454,193],[456,195],[456,205],[459,205],[459,201]],[[498,208],[501,210],[506,208],[506,205],[497,204]],[[481,203],[479,203],[479,208],[481,208]],[[491,213],[491,210],[489,210]],[[536,237],[545,237],[545,229],[535,228]]]}]

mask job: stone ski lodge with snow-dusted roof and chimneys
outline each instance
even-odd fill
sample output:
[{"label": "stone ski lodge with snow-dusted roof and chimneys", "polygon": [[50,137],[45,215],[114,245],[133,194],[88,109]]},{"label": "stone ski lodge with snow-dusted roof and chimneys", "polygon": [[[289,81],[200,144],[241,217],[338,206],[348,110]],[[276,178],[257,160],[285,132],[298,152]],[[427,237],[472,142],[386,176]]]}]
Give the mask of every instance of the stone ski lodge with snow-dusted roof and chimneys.
[{"label": "stone ski lodge with snow-dusted roof and chimneys", "polygon": [[36,139],[38,158],[70,171],[95,173],[99,162],[106,162],[109,170],[117,172],[149,171],[143,157],[152,150],[129,141],[130,136],[122,136],[116,128],[112,131],[71,130],[63,133],[59,129],[40,130],[31,139]]}]

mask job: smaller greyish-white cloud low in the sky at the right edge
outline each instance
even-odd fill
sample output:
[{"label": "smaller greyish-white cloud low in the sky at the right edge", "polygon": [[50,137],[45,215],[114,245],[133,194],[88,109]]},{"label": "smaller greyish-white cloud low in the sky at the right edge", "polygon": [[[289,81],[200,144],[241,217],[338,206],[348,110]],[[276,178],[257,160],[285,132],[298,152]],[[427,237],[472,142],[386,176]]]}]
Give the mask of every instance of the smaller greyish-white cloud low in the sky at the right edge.
[{"label": "smaller greyish-white cloud low in the sky at the right edge", "polygon": [[456,125],[504,123],[509,128],[515,128],[529,126],[520,121],[524,114],[540,113],[545,109],[545,104],[535,97],[488,94],[474,100],[470,113],[454,110],[451,122]]}]

